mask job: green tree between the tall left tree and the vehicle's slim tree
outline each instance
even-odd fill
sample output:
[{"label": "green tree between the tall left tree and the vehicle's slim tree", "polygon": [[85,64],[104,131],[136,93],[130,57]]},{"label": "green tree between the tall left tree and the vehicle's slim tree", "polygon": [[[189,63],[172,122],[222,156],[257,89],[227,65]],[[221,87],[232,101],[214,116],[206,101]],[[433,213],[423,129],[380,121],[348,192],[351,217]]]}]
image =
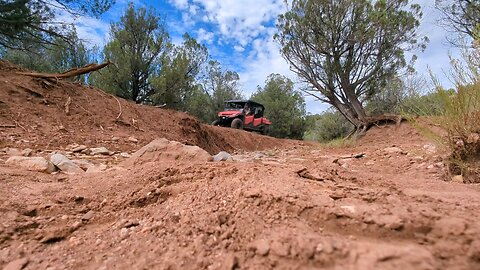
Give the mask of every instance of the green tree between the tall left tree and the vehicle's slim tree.
[{"label": "green tree between the tall left tree and the vehicle's slim tree", "polygon": [[189,99],[199,97],[196,79],[208,59],[208,50],[188,34],[183,38],[183,45],[163,58],[160,74],[152,79],[152,100],[167,108],[188,111]]}]

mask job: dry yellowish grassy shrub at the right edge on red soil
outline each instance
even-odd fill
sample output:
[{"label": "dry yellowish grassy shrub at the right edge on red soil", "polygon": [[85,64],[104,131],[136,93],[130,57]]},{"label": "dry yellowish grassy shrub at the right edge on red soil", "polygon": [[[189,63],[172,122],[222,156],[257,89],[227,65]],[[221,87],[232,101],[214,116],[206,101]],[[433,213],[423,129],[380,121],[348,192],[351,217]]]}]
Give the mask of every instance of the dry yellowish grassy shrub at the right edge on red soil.
[{"label": "dry yellowish grassy shrub at the right edge on red soil", "polygon": [[464,51],[464,62],[452,60],[455,92],[437,83],[443,113],[437,119],[447,136],[443,143],[451,150],[447,163],[452,175],[464,182],[480,182],[480,47]]}]

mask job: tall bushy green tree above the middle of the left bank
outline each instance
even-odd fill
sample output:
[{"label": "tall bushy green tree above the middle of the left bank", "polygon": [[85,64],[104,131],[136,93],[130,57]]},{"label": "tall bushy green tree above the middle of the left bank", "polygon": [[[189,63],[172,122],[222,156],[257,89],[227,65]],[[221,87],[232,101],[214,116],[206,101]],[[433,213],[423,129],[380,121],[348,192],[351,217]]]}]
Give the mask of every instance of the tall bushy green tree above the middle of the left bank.
[{"label": "tall bushy green tree above the middle of the left bank", "polygon": [[102,70],[93,82],[107,92],[137,103],[151,101],[151,78],[159,75],[162,59],[171,48],[170,38],[154,10],[135,9],[130,3],[117,23],[104,58],[115,65]]}]

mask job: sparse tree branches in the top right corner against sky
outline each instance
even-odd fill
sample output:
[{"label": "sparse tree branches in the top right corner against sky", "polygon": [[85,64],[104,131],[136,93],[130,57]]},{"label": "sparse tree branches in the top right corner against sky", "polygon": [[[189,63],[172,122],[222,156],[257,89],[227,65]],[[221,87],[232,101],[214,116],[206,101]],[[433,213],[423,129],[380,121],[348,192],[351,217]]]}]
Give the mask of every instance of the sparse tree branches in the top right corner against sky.
[{"label": "sparse tree branches in the top right corner against sky", "polygon": [[439,21],[454,36],[449,40],[459,44],[458,38],[480,38],[480,2],[476,0],[436,0],[435,7],[442,12]]}]

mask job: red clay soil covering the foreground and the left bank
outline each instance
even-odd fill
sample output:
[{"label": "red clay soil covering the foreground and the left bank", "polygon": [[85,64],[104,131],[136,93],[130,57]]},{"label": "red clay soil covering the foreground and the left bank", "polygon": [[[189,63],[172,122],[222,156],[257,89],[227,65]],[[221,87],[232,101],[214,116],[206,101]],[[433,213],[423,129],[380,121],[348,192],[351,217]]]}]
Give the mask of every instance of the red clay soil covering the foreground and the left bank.
[{"label": "red clay soil covering the foreground and the left bank", "polygon": [[[0,74],[1,123],[15,125],[0,129],[14,136],[2,137],[7,145],[55,150],[87,140],[104,146],[119,136],[119,149],[131,151],[156,134],[211,153],[265,150],[231,162],[166,158],[82,175],[0,161],[0,267],[480,269],[480,186],[444,181],[441,153],[408,124],[326,149],[121,100],[123,120],[138,120],[126,126],[115,122],[116,100],[98,90],[40,89],[8,72]],[[15,85],[38,91],[47,104]],[[164,125],[151,125],[157,121]]]}]

